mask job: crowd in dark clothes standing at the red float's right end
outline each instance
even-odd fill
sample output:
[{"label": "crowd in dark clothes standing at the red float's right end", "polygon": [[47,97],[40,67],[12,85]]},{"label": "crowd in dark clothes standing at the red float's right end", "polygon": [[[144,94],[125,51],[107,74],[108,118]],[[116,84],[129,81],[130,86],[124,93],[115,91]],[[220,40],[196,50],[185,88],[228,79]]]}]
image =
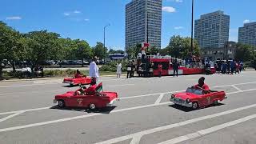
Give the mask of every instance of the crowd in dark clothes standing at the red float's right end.
[{"label": "crowd in dark clothes standing at the red float's right end", "polygon": [[242,61],[226,60],[216,62],[215,69],[219,74],[239,74],[244,66]]}]

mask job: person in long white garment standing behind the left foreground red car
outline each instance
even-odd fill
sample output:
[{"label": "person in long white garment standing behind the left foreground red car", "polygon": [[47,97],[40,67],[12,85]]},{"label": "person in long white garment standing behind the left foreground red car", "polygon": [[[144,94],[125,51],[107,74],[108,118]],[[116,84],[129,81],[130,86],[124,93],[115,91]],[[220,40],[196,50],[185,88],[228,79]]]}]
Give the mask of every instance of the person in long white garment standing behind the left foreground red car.
[{"label": "person in long white garment standing behind the left foreground red car", "polygon": [[98,74],[98,66],[96,64],[97,58],[94,57],[92,61],[90,62],[90,70],[89,70],[89,76],[92,78],[90,85],[96,85],[99,74]]}]

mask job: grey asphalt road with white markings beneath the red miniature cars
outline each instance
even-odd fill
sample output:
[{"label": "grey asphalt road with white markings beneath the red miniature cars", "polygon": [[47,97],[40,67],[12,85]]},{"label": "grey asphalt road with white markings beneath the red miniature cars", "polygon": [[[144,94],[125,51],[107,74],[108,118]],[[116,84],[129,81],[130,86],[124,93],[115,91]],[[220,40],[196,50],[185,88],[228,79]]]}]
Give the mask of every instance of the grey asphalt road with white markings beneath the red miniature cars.
[{"label": "grey asphalt road with white markings beneath the red miniature cars", "polygon": [[254,144],[256,72],[204,76],[228,98],[200,110],[174,106],[169,99],[202,75],[101,78],[103,89],[117,91],[120,101],[98,112],[55,108],[55,94],[78,88],[62,80],[0,82],[0,143]]}]

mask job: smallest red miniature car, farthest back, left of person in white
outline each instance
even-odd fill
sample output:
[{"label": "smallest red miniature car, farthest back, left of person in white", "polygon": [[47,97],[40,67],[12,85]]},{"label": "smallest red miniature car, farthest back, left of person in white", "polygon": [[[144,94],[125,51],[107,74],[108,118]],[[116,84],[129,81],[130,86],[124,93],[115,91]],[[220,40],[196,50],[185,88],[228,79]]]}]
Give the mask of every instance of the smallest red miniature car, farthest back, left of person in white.
[{"label": "smallest red miniature car, farthest back, left of person in white", "polygon": [[77,86],[81,85],[88,85],[91,82],[91,78],[89,77],[82,77],[82,78],[64,78],[62,83],[69,83],[70,86]]}]

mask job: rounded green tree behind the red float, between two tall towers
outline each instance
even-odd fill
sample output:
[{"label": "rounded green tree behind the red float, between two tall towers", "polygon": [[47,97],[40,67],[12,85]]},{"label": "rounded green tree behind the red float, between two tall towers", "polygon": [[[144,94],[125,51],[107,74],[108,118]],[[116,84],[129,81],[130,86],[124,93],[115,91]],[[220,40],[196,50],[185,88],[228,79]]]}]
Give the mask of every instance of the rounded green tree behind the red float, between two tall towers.
[{"label": "rounded green tree behind the red float, between two tall towers", "polygon": [[[166,51],[175,58],[186,58],[190,56],[191,51],[191,39],[189,37],[182,38],[181,36],[173,36],[170,38],[170,43],[166,47]],[[193,54],[199,56],[200,50],[197,42],[194,41]]]}]

